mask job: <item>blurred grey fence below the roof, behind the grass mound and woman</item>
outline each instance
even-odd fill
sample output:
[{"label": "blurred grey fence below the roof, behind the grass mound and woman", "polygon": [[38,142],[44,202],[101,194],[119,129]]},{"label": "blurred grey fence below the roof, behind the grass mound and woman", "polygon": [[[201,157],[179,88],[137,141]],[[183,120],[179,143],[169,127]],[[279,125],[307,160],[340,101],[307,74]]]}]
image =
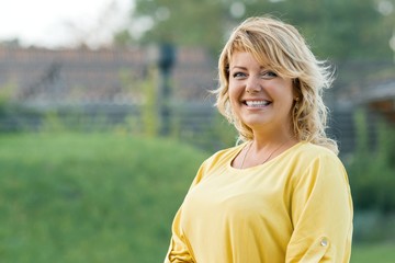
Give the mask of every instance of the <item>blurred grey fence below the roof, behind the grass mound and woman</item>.
[{"label": "blurred grey fence below the roof, behind the grass mound and woman", "polygon": [[[368,132],[371,144],[375,144],[377,115],[366,112]],[[63,105],[57,107],[11,108],[0,115],[0,132],[56,132],[57,129],[83,133],[124,130],[144,134],[146,127],[142,107],[114,103]],[[211,102],[177,104],[171,107],[170,134],[177,139],[204,149],[225,147],[224,136],[232,136],[230,126],[219,116]],[[356,148],[356,123],[352,107],[330,111],[328,135],[340,146],[341,155],[351,153]],[[236,133],[234,138],[236,137]],[[227,141],[232,140],[228,139]]]}]

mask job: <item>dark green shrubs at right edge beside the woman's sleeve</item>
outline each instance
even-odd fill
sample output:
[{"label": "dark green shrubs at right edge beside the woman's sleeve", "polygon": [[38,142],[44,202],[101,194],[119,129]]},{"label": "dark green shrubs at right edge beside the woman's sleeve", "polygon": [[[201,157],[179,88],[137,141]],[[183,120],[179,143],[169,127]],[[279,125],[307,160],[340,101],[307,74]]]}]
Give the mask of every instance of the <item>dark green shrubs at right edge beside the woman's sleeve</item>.
[{"label": "dark green shrubs at right edge beside the woman's sleeve", "polygon": [[377,128],[376,148],[369,146],[364,112],[357,112],[357,150],[348,171],[356,209],[395,213],[395,129]]}]

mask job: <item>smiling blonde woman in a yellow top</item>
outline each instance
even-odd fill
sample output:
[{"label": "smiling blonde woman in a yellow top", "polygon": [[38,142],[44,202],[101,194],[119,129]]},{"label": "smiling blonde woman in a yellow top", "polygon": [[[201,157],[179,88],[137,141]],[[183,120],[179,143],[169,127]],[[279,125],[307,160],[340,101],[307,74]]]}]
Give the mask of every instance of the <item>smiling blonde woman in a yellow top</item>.
[{"label": "smiling blonde woman in a yellow top", "polygon": [[165,262],[349,262],[352,202],[321,90],[331,75],[289,24],[250,18],[219,57],[236,147],[201,165]]}]

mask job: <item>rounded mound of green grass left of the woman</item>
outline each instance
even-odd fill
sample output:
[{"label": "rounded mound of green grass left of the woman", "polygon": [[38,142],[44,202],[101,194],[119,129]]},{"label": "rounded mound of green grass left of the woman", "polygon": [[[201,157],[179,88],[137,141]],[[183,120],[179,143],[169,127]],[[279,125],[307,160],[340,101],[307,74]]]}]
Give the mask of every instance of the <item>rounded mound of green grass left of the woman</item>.
[{"label": "rounded mound of green grass left of the woman", "polygon": [[115,134],[0,136],[1,262],[161,262],[204,158]]}]

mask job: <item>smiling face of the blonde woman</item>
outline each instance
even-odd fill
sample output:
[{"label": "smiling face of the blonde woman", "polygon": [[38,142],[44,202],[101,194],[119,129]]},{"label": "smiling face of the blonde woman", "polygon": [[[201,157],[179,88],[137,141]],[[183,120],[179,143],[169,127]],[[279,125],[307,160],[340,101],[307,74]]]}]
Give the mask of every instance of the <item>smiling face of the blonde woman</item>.
[{"label": "smiling face of the blonde woman", "polygon": [[253,133],[291,130],[291,107],[295,99],[292,80],[264,68],[251,54],[233,55],[228,92],[233,112]]}]

